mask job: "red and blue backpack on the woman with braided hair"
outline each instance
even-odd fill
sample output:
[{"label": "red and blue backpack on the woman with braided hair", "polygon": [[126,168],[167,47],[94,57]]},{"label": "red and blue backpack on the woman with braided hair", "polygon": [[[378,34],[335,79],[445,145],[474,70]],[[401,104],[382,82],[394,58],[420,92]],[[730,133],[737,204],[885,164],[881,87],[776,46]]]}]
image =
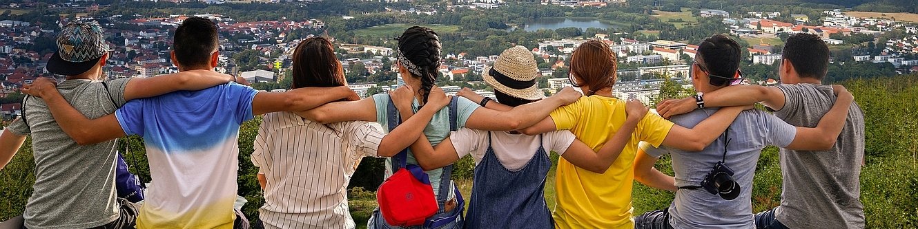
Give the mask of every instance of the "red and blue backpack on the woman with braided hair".
[{"label": "red and blue backpack on the woman with braided hair", "polygon": [[[453,96],[450,102],[450,130],[455,131],[455,115],[458,97]],[[396,128],[401,123],[398,110],[389,98],[389,105],[386,115],[389,131]],[[393,168],[398,168],[395,173],[383,181],[376,191],[376,201],[379,202],[379,211],[382,213],[386,223],[396,226],[413,226],[413,225],[431,225],[436,227],[439,224],[449,222],[449,219],[427,221],[427,218],[437,213],[440,207],[437,204],[437,198],[433,194],[431,180],[418,165],[410,165],[407,162],[408,149],[403,149],[396,156],[392,157]],[[449,169],[452,169],[450,167]],[[441,187],[442,189],[443,187]],[[456,191],[456,197],[459,205],[462,206],[462,195]]]}]

